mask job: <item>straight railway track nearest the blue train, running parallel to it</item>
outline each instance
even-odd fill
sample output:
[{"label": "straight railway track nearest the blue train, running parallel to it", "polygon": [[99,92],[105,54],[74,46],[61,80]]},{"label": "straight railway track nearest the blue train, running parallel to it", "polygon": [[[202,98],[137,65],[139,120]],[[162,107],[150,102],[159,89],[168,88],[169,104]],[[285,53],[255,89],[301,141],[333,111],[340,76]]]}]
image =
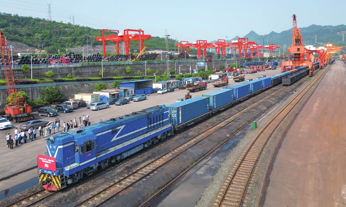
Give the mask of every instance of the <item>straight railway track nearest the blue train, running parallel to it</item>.
[{"label": "straight railway track nearest the blue train, running parallel to it", "polygon": [[[269,98],[271,98],[273,95],[276,95],[277,93],[281,92],[285,87],[281,87],[277,89],[275,92],[271,94]],[[294,90],[294,89],[293,89]],[[198,144],[203,139],[207,138],[211,134],[213,134],[215,131],[227,126],[240,116],[243,116],[247,112],[249,112],[249,109],[253,109],[254,107],[260,105],[260,103],[266,101],[267,99],[261,99],[250,106],[242,109],[241,111],[237,112],[236,114],[228,117],[224,121],[220,122],[219,124],[216,124],[207,130],[203,131],[201,134],[195,136],[194,138],[190,139],[189,141],[185,142],[184,144],[180,145],[179,147],[176,147],[175,149],[171,150],[167,154],[161,156],[160,158],[157,158],[150,162],[149,164],[139,168],[138,170],[134,171],[133,173],[129,174],[128,176],[116,181],[115,183],[109,185],[108,187],[104,188],[103,190],[100,190],[96,194],[92,195],[91,197],[81,201],[75,207],[97,207],[112,198],[113,196],[119,194],[121,191],[125,190],[126,188],[130,187],[131,185],[135,184],[138,180],[143,179],[144,177],[152,174],[157,168],[161,167],[168,161],[172,160],[173,158],[177,157],[184,151],[188,150],[189,148],[193,147],[194,145]],[[276,102],[275,102],[276,103]],[[274,103],[274,104],[275,104]],[[273,105],[274,105],[273,104]],[[270,106],[271,107],[271,106]],[[252,121],[252,120],[251,120]],[[244,128],[248,123],[246,123],[242,128]],[[242,129],[241,128],[241,129]],[[240,131],[239,129],[238,131]],[[237,131],[237,132],[238,132]],[[236,132],[236,133],[237,133]],[[235,133],[235,134],[236,134]]]}]

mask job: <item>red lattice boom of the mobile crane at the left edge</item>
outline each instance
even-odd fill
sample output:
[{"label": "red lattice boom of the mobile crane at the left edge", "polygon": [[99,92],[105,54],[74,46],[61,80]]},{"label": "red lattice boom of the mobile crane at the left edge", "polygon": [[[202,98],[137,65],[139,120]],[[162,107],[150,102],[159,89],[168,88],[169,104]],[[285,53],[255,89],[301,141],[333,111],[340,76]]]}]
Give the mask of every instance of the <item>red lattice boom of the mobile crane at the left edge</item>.
[{"label": "red lattice boom of the mobile crane at the left edge", "polygon": [[[5,39],[3,31],[0,31],[0,52],[1,52],[3,69],[5,72],[7,92],[10,98],[10,103],[12,103],[13,105],[18,105],[19,101],[17,98],[15,78],[13,76],[12,62],[11,62],[10,53],[7,47],[7,43],[6,43],[6,39]],[[15,93],[15,96],[14,96],[15,100],[12,100],[11,93]]]}]

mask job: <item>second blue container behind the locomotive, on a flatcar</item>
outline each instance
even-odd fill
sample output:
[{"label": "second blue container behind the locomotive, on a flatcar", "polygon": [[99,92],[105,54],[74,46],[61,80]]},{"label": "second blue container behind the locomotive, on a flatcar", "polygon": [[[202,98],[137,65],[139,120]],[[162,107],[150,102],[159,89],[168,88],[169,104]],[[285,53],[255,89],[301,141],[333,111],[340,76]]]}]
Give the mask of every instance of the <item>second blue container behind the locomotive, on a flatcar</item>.
[{"label": "second blue container behind the locomotive, on a flatcar", "polygon": [[217,109],[234,100],[233,89],[220,89],[204,94],[203,97],[209,97],[210,109]]}]

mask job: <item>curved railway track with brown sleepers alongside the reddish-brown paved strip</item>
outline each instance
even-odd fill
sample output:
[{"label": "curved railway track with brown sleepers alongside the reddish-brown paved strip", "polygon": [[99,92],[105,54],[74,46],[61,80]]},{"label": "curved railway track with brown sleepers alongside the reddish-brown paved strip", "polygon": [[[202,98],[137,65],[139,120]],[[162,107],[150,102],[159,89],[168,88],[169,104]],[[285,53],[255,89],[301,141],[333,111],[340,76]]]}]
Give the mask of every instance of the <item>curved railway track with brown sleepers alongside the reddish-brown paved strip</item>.
[{"label": "curved railway track with brown sleepers alongside the reddish-brown paved strip", "polygon": [[219,199],[216,200],[217,203],[214,204],[215,206],[240,207],[252,172],[268,139],[271,137],[274,130],[281,124],[282,120],[299,103],[299,101],[304,97],[304,95],[306,95],[328,68],[329,66],[321,71],[315,79],[313,79],[303,90],[291,99],[284,108],[282,108],[262,129],[257,132],[252,142],[248,145],[247,150],[243,152],[243,157],[237,161],[238,164],[233,168],[226,180],[226,183],[222,186],[221,192],[223,193],[219,193],[220,196],[218,196]]}]

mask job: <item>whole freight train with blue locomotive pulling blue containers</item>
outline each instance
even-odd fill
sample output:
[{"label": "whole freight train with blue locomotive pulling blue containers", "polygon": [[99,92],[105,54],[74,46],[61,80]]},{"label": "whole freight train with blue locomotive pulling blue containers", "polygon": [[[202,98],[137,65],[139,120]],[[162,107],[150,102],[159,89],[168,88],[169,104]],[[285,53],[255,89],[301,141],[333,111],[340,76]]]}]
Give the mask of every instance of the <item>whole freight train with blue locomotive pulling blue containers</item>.
[{"label": "whole freight train with blue locomotive pulling blue containers", "polygon": [[[317,63],[314,63],[318,65]],[[98,168],[118,162],[183,130],[236,102],[281,83],[282,78],[307,69],[229,86],[165,106],[154,106],[47,138],[47,152],[38,155],[39,182],[47,190],[60,190]]]}]

